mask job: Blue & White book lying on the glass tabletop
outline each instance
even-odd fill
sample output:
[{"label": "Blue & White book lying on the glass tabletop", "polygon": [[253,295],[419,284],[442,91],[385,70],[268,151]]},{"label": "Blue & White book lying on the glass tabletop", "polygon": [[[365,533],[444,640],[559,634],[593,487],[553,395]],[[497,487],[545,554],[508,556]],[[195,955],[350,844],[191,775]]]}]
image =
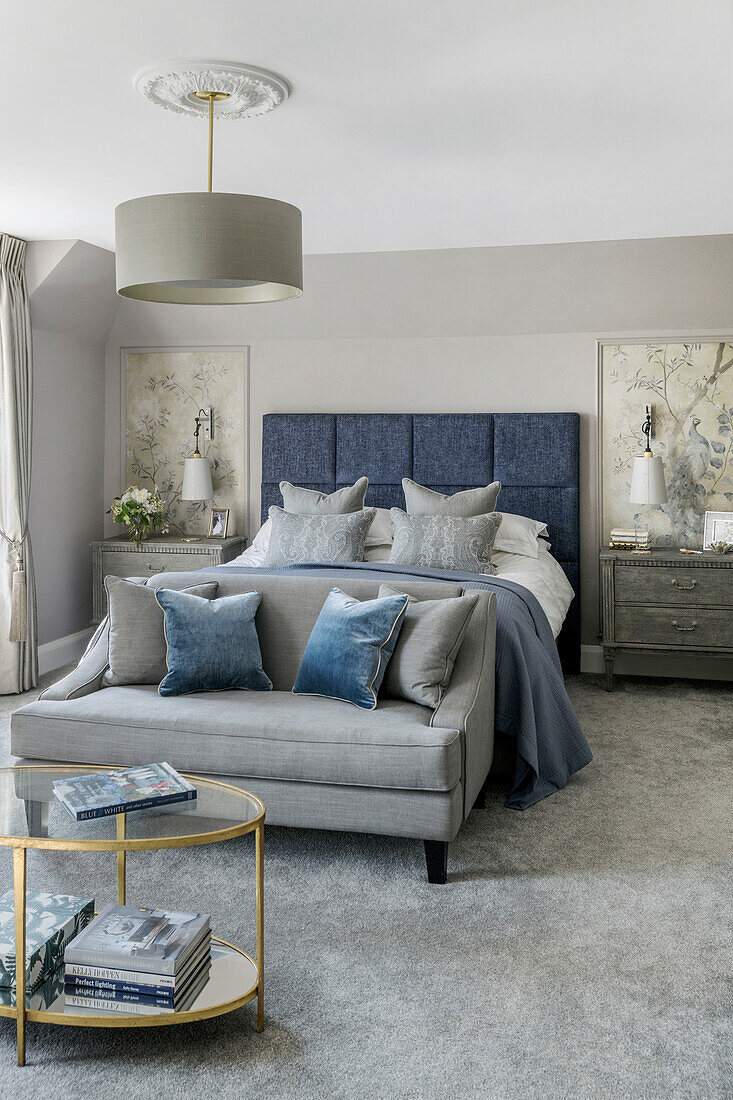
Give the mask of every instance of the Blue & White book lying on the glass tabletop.
[{"label": "Blue & White book lying on the glass tabletop", "polygon": [[196,788],[169,763],[117,768],[54,781],[54,794],[77,822],[190,802]]}]

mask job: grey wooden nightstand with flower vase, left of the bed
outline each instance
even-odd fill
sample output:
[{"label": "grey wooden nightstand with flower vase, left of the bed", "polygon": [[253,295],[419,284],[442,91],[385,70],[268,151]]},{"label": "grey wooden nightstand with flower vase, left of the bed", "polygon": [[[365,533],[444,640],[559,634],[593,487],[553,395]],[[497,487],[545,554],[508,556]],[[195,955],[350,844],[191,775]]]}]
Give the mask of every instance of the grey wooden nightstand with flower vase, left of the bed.
[{"label": "grey wooden nightstand with flower vase, left of the bed", "polygon": [[184,542],[179,536],[165,535],[146,539],[140,549],[124,535],[91,543],[92,622],[100,623],[107,614],[105,578],[153,576],[154,573],[187,572],[207,565],[222,565],[237,558],[247,547],[247,539],[233,535],[227,539],[197,539]]}]

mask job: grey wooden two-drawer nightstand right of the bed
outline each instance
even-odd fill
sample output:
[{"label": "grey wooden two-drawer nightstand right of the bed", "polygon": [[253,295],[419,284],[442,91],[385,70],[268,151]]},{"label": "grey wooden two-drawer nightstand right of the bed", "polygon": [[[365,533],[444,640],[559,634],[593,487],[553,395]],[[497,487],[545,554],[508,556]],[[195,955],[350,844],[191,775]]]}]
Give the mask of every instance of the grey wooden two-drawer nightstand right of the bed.
[{"label": "grey wooden two-drawer nightstand right of the bed", "polygon": [[733,656],[733,554],[602,550],[605,689],[617,650]]}]

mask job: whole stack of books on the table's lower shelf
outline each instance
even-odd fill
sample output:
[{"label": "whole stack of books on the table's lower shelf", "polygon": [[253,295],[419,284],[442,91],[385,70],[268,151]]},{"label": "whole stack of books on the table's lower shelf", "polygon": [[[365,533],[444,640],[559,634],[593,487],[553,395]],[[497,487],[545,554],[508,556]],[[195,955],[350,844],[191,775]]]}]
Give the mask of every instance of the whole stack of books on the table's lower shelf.
[{"label": "whole stack of books on the table's lower shelf", "polygon": [[108,905],[66,948],[65,1004],[85,1014],[185,1012],[209,978],[204,913]]}]

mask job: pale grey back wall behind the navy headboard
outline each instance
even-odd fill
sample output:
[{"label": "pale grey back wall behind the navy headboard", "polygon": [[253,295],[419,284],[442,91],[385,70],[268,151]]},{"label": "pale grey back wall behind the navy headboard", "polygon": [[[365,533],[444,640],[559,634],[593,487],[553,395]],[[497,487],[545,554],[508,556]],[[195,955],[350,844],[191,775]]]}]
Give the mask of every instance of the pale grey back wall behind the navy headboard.
[{"label": "pale grey back wall behind the navy headboard", "polygon": [[732,288],[733,237],[725,235],[307,256],[296,301],[180,307],[121,299],[107,355],[106,498],[123,476],[122,346],[251,346],[250,535],[259,520],[264,413],[576,410],[583,640],[594,644],[595,340],[730,337]]}]

